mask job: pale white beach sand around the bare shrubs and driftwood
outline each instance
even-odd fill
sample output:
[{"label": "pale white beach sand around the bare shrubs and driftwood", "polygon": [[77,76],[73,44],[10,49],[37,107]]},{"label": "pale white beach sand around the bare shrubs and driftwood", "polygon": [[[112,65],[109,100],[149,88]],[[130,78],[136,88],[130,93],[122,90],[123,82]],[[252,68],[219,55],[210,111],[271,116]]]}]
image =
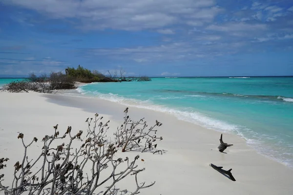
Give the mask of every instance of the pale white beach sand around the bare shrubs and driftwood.
[{"label": "pale white beach sand around the bare shrubs and driftwood", "polygon": [[[122,124],[126,106],[97,98],[69,97],[60,94],[7,93],[0,92],[0,157],[8,157],[4,184],[13,179],[13,165],[21,160],[23,148],[19,133],[27,142],[46,134],[53,134],[53,126],[59,124],[60,131],[72,126],[78,132],[87,128],[84,122],[95,113],[110,120],[108,135],[112,136],[117,126]],[[151,153],[118,151],[116,156],[133,158],[140,155],[139,168],[146,171],[139,180],[155,185],[141,191],[141,195],[292,195],[293,170],[265,156],[257,154],[241,137],[223,134],[224,142],[234,144],[224,153],[217,149],[221,133],[197,126],[176,117],[147,109],[129,107],[129,115],[134,120],[145,117],[149,125],[155,120],[163,123],[158,128],[158,136],[163,140],[159,149],[163,155]],[[37,143],[29,149],[33,158],[41,151]],[[209,164],[232,169],[236,181],[215,171]],[[133,176],[130,183],[121,183],[121,189],[135,189]],[[6,182],[6,183],[5,183]],[[128,182],[128,180],[127,180]],[[104,189],[99,189],[98,192]],[[0,194],[3,192],[0,192]]]}]

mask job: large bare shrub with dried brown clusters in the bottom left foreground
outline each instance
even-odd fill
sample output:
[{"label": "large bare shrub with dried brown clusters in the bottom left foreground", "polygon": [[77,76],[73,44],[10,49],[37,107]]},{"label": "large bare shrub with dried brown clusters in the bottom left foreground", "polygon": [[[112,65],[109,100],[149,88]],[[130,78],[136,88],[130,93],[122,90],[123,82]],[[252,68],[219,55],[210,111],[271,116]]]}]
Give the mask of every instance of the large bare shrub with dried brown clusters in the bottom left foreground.
[{"label": "large bare shrub with dried brown clusters in the bottom left foreground", "polygon": [[[121,190],[120,192],[124,195],[136,195],[141,189],[152,186],[155,182],[149,185],[138,182],[137,175],[145,170],[137,169],[136,161],[139,156],[135,156],[133,160],[128,157],[125,159],[115,157],[117,149],[114,143],[106,138],[109,121],[103,123],[102,118],[96,114],[94,118],[86,119],[88,130],[84,138],[83,131],[73,134],[71,126],[68,126],[65,133],[60,136],[57,124],[53,127],[54,134],[42,138],[43,146],[40,155],[31,160],[29,160],[27,149],[38,139],[34,137],[29,144],[26,144],[24,135],[20,133],[18,138],[22,141],[24,156],[14,165],[14,179],[11,187],[3,186],[4,175],[0,175],[0,189],[7,195],[22,193],[40,195],[45,190],[50,195],[79,193],[92,195],[97,190],[99,194],[117,195],[120,189],[117,189],[115,185],[131,175],[135,176],[136,189],[132,193]],[[79,147],[74,148],[73,143],[80,143]],[[0,158],[0,169],[6,167],[5,163],[8,160],[8,158]],[[38,163],[39,165],[41,163],[41,166]],[[85,167],[90,167],[90,170],[86,170]],[[101,192],[102,188],[105,188],[105,191]]]}]

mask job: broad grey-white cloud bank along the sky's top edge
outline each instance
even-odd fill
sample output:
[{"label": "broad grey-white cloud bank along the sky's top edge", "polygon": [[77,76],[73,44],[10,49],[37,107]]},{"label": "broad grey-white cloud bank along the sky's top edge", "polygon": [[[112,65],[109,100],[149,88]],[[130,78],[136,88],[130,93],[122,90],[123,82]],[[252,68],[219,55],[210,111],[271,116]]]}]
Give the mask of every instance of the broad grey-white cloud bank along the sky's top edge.
[{"label": "broad grey-white cloud bank along the sky's top edge", "polygon": [[221,11],[215,0],[6,0],[48,18],[80,21],[79,28],[142,30],[209,22]]}]

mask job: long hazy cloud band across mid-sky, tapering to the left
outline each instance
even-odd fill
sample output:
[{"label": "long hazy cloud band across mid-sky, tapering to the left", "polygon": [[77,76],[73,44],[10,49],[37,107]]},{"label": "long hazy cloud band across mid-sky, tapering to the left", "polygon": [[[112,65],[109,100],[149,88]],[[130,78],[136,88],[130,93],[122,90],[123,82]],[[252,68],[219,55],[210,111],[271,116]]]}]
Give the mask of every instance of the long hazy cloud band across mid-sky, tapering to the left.
[{"label": "long hazy cloud band across mid-sky, tapering to the left", "polygon": [[[121,48],[81,48],[75,53],[88,58],[103,58],[105,60],[142,64],[155,64],[161,62],[178,63],[180,61],[192,61],[199,58],[211,59],[216,56],[241,52],[251,44],[250,40],[263,32],[248,32],[247,36],[232,37],[242,32],[222,33],[221,36],[212,32],[204,34],[196,32],[196,35],[188,35],[185,41],[170,40],[164,44],[154,46],[121,47]],[[234,33],[234,34],[233,34]]]}]

